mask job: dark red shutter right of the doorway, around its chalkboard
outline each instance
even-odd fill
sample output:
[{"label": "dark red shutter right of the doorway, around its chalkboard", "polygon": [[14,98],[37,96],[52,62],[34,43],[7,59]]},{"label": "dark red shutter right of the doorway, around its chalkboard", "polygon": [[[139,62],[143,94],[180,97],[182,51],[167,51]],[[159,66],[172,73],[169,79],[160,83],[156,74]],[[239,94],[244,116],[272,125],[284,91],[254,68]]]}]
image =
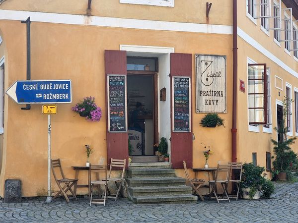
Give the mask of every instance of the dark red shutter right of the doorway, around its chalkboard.
[{"label": "dark red shutter right of the doorway, around its chalkboard", "polygon": [[[191,54],[171,54],[171,78],[172,76],[192,76],[192,55]],[[172,81],[171,81],[172,83]],[[192,83],[192,79],[190,79]],[[172,87],[171,87],[172,89]],[[172,91],[172,90],[171,90]],[[171,92],[171,97],[173,92]],[[190,92],[192,98],[192,88]],[[172,104],[172,98],[171,98]],[[192,103],[191,103],[192,104]],[[172,117],[171,105],[171,119]],[[190,108],[192,115],[192,105]],[[172,168],[183,168],[182,161],[186,162],[187,168],[192,168],[193,152],[192,152],[192,117],[191,117],[191,132],[173,132],[171,126],[171,164]],[[172,121],[171,121],[172,123]]]}]

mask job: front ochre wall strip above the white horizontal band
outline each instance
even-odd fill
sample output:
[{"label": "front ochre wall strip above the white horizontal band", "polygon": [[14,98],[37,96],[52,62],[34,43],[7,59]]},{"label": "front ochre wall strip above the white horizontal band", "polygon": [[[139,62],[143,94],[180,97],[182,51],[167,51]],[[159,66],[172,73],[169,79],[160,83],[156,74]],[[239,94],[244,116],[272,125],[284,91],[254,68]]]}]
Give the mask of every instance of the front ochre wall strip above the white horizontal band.
[{"label": "front ochre wall strip above the white horizontal band", "polygon": [[0,9],[174,22],[232,24],[231,0],[213,0],[209,19],[206,18],[206,1],[202,0],[175,0],[175,7],[125,4],[119,3],[119,0],[92,0],[90,12],[87,11],[87,3],[88,0],[7,0],[0,5]]}]

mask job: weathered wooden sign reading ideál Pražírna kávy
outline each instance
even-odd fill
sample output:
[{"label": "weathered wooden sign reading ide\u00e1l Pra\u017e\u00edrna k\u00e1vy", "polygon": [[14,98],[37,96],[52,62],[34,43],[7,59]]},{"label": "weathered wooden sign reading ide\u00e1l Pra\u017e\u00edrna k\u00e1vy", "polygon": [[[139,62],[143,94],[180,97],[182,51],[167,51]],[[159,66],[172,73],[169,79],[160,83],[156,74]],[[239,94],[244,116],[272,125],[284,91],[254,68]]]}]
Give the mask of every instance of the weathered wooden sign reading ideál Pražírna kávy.
[{"label": "weathered wooden sign reading ide\u00e1l Pra\u017e\u00edrna k\u00e1vy", "polygon": [[226,113],[226,58],[196,54],[196,112]]}]

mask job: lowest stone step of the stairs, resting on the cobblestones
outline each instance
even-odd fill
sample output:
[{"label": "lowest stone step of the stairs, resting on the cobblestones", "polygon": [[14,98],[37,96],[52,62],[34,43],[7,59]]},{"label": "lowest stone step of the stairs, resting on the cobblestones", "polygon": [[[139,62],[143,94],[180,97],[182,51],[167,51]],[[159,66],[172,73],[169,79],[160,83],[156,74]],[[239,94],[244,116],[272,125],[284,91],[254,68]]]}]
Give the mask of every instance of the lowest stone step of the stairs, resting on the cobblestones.
[{"label": "lowest stone step of the stairs, resting on the cobblestones", "polygon": [[133,202],[142,203],[197,203],[198,197],[193,195],[169,195],[169,196],[141,196],[133,197]]}]

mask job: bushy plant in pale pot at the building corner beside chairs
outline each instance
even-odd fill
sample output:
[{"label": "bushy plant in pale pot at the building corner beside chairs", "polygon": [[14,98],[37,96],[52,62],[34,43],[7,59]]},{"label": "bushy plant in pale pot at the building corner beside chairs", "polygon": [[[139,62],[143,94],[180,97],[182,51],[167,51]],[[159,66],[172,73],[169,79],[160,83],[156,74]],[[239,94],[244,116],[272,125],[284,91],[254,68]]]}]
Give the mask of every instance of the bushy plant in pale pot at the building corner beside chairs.
[{"label": "bushy plant in pale pot at the building corner beside chairs", "polygon": [[240,187],[244,199],[270,198],[274,193],[274,185],[265,178],[264,171],[265,167],[258,167],[253,163],[243,164]]}]

